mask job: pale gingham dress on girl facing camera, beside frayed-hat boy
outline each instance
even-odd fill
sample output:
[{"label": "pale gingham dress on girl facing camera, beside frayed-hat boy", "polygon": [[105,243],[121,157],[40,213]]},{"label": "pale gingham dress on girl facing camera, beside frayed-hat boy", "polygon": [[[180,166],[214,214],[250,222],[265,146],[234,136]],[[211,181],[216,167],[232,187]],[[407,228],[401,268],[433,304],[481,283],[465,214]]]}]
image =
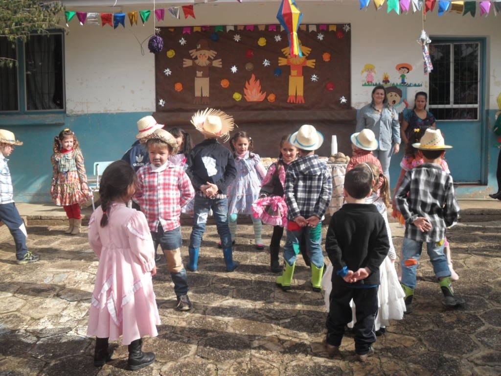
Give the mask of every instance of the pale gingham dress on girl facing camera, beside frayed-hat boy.
[{"label": "pale gingham dress on girl facing camera, beside frayed-hat boy", "polygon": [[228,186],[228,214],[252,215],[252,204],[258,199],[261,181],[266,175],[261,157],[254,154],[249,158],[247,152],[243,158],[235,157],[236,178]]}]

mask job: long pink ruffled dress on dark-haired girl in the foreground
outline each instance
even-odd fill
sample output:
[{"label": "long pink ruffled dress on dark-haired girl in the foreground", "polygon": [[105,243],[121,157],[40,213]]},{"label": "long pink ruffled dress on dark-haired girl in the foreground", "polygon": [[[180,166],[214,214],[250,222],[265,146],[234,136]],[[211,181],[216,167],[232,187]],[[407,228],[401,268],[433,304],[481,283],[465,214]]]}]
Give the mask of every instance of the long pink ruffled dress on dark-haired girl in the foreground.
[{"label": "long pink ruffled dress on dark-haired girl in the foreground", "polygon": [[153,292],[153,241],[144,214],[123,203],[108,209],[108,225],[100,226],[97,208],[89,221],[89,243],[99,258],[87,335],[124,345],[156,336],[160,316]]}]

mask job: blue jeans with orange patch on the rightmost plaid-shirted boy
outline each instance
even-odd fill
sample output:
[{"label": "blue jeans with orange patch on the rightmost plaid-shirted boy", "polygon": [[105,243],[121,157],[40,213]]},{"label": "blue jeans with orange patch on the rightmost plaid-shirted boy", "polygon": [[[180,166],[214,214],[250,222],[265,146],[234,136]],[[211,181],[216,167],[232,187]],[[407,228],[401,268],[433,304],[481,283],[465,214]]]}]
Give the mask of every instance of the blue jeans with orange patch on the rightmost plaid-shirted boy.
[{"label": "blue jeans with orange patch on the rightmost plaid-shirted boy", "polygon": [[[428,252],[428,256],[430,257],[431,265],[433,265],[433,272],[435,273],[435,277],[437,279],[450,276],[447,258],[443,253],[443,245],[443,240],[440,242],[426,243],[426,250]],[[411,289],[416,288],[417,261],[419,261],[419,258],[421,257],[422,250],[423,242],[404,238],[402,246],[402,260],[400,260],[400,266],[402,267],[401,282]],[[416,263],[414,265],[406,266],[405,261],[409,259],[416,260]]]}]

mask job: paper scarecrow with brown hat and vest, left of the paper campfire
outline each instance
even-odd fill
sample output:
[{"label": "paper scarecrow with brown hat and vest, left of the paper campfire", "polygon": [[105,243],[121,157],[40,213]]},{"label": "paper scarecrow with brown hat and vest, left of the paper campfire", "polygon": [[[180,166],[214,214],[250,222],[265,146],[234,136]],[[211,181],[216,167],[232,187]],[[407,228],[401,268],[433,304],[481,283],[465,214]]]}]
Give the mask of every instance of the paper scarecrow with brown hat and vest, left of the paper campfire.
[{"label": "paper scarecrow with brown hat and vest, left of the paper campfire", "polygon": [[217,52],[209,48],[206,39],[198,41],[195,50],[189,51],[192,59],[183,59],[183,68],[195,67],[194,104],[209,103],[209,67],[221,68],[221,59],[214,59]]}]

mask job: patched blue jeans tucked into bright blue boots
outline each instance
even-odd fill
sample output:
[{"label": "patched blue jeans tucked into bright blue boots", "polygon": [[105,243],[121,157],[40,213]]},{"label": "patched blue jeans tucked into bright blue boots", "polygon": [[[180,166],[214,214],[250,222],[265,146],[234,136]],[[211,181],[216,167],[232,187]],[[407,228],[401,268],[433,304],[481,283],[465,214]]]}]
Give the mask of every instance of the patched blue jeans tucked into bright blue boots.
[{"label": "patched blue jeans tucked into bright blue boots", "polygon": [[209,210],[212,209],[216,228],[221,238],[222,249],[231,248],[231,234],[228,226],[228,199],[208,199],[195,195],[193,207],[193,228],[189,249],[200,248]]}]

